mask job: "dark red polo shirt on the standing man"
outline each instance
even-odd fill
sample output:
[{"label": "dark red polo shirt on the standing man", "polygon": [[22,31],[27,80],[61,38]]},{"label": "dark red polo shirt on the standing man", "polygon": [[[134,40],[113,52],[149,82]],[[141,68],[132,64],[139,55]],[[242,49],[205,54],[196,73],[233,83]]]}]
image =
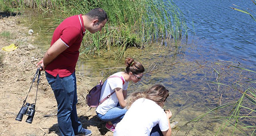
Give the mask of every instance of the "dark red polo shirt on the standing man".
[{"label": "dark red polo shirt on the standing man", "polygon": [[68,48],[46,66],[46,72],[55,77],[57,74],[66,77],[75,71],[84,33],[82,14],[68,17],[60,23],[53,33],[51,46],[61,39]]}]

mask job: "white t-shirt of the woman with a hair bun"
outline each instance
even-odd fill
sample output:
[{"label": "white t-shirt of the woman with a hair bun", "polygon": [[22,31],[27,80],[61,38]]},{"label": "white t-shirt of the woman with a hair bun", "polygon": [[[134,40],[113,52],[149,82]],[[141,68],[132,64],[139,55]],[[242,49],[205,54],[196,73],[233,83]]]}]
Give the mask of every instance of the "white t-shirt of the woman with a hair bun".
[{"label": "white t-shirt of the woman with a hair bun", "polygon": [[[124,72],[117,72],[115,74],[112,74],[111,76],[121,77],[122,76],[121,73],[124,73]],[[123,77],[123,79],[124,79],[124,77]],[[115,91],[116,88],[122,88],[122,90],[127,90],[128,84],[129,84],[129,82],[126,82],[124,80],[124,85],[123,85],[122,79],[118,78],[118,77],[108,78],[102,86],[101,93],[100,93],[100,101],[102,99],[106,98],[106,96],[108,96],[109,94],[111,94],[111,92]],[[110,96],[110,98],[105,100],[102,104],[100,104],[96,108],[96,112],[98,112],[102,115],[105,115],[106,112],[108,112],[108,110],[116,107],[117,104],[118,104],[118,98],[116,96],[116,93],[114,93]]]}]

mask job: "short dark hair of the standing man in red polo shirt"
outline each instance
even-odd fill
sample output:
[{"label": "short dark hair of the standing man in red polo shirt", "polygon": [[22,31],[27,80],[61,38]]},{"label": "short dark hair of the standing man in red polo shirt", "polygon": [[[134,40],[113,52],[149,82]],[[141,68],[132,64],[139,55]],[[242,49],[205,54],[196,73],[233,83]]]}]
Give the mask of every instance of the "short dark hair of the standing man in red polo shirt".
[{"label": "short dark hair of the standing man in red polo shirt", "polygon": [[86,15],[90,19],[98,19],[99,22],[102,22],[105,19],[108,21],[107,13],[102,8],[94,8],[90,10]]}]

